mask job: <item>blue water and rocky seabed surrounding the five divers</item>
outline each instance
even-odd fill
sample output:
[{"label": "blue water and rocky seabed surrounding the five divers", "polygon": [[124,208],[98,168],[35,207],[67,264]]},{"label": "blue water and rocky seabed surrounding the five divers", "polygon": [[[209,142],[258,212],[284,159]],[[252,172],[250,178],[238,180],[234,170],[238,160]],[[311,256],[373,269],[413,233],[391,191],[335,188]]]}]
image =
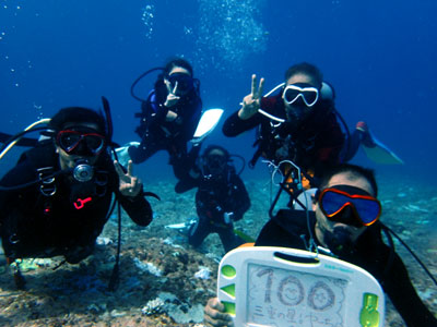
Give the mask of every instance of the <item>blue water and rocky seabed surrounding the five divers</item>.
[{"label": "blue water and rocky seabed surrounding the five divers", "polygon": [[[223,125],[245,105],[252,74],[264,78],[267,94],[290,66],[311,63],[334,92],[343,133],[352,134],[358,122],[371,131],[379,152],[362,145],[350,162],[375,171],[380,220],[401,238],[393,238],[395,252],[437,316],[436,14],[433,0],[0,0],[0,145],[4,135],[61,108],[103,110],[102,97],[110,105],[113,141],[141,142],[138,98],[155,86],[161,71],[153,69],[184,58],[199,81],[202,111],[224,110],[201,152],[220,145],[240,172],[250,207],[234,232],[253,242],[270,219],[280,177],[262,157],[249,167],[255,130],[227,137]],[[1,178],[26,149],[20,143],[4,154],[1,148]],[[126,164],[126,153],[118,154]],[[23,290],[14,280],[16,265],[8,265],[1,250],[0,326],[210,326],[204,306],[216,296],[225,250],[216,233],[196,247],[188,242],[197,190],[175,192],[172,160],[158,150],[133,162],[144,191],[158,198],[146,197],[153,210],[146,227],[121,210],[119,255],[117,209],[80,263],[61,256],[20,261]],[[275,210],[288,204],[282,194]],[[118,261],[118,287],[109,291]],[[385,326],[406,326],[388,296]]]}]

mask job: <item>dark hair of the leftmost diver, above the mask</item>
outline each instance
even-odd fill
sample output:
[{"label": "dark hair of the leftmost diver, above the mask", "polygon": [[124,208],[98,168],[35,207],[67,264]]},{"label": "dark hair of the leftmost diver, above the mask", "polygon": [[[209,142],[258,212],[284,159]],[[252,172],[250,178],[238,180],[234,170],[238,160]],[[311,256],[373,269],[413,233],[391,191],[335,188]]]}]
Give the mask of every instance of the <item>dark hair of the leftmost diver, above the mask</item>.
[{"label": "dark hair of the leftmost diver, above the mask", "polygon": [[95,123],[98,132],[107,136],[106,121],[102,113],[84,107],[68,107],[59,110],[50,120],[49,128],[61,131],[71,123]]}]

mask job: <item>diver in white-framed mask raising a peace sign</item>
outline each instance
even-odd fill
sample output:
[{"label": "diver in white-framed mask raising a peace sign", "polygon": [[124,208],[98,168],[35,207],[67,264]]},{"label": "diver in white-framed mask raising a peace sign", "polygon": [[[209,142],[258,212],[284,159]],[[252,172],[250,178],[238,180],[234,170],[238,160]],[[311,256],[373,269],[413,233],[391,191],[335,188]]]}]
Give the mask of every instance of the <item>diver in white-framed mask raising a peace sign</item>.
[{"label": "diver in white-framed mask raising a peace sign", "polygon": [[[252,167],[260,156],[275,165],[291,160],[317,186],[315,179],[323,169],[351,159],[368,134],[367,125],[359,122],[346,140],[338,121],[333,88],[323,82],[321,72],[312,64],[303,62],[291,66],[285,73],[285,83],[265,96],[262,96],[264,80],[260,80],[258,89],[256,83],[252,75],[251,94],[223,125],[226,136],[259,126]],[[281,92],[270,96],[277,88]]]}]

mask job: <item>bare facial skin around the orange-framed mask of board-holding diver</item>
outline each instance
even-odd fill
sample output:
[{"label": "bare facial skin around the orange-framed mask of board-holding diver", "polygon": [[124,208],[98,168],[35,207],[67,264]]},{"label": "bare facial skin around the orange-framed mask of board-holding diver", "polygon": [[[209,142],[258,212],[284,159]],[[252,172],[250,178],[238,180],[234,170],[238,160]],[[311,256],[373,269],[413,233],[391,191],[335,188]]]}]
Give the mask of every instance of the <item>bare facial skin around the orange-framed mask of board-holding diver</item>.
[{"label": "bare facial skin around the orange-framed mask of board-holding diver", "polygon": [[[370,183],[366,179],[352,175],[350,172],[342,172],[333,175],[329,181],[327,187],[332,187],[335,185],[355,186],[374,195],[374,190],[371,189]],[[357,228],[342,222],[329,220],[321,211],[318,203],[316,203],[312,208],[316,211],[316,237],[319,240],[319,242],[323,244],[323,246],[328,247],[326,240],[329,239],[329,237],[334,233],[334,229],[340,229],[345,234],[347,234],[349,240],[352,243],[355,243],[356,240],[361,237],[361,234],[363,234],[363,232],[367,229],[367,227]]]}]

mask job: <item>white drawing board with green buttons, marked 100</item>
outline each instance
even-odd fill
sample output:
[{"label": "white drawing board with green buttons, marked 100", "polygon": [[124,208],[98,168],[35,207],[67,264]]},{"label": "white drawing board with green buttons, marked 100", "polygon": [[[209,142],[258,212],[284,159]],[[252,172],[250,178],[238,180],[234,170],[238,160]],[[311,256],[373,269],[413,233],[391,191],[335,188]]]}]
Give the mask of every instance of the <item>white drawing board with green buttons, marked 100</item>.
[{"label": "white drawing board with green buttons, marked 100", "polygon": [[217,296],[235,326],[382,327],[378,281],[350,263],[284,247],[243,247],[220,263]]}]

